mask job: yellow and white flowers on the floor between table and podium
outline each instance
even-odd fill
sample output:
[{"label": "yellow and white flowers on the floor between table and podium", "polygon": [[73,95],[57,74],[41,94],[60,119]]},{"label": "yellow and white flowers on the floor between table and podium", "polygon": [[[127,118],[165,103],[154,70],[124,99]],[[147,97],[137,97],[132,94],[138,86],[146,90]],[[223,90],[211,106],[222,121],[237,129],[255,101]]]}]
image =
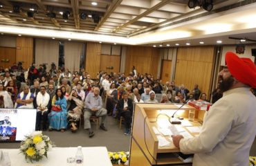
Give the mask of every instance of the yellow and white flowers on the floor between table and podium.
[{"label": "yellow and white flowers on the floor between table and podium", "polygon": [[109,151],[109,158],[111,160],[112,164],[118,164],[120,165],[121,163],[123,165],[128,165],[129,164],[129,151],[118,151],[118,152],[111,152]]}]

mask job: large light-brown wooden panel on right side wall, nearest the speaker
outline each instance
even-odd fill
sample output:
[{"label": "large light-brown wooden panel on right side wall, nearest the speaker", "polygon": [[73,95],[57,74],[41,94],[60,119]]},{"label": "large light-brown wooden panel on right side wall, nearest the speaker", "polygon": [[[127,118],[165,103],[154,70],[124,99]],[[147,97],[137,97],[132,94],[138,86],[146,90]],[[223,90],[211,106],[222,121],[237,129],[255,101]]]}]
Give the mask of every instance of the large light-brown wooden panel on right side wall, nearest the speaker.
[{"label": "large light-brown wooden panel on right side wall, nearest the speaker", "polygon": [[175,82],[190,91],[199,84],[201,92],[210,94],[214,47],[181,47],[178,49]]}]

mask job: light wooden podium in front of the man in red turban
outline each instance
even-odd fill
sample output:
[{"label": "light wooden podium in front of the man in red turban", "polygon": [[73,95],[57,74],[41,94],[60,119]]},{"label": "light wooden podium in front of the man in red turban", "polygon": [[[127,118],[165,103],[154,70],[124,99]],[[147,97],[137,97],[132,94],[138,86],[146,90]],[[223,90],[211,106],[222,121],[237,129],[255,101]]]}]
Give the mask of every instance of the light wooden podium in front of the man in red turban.
[{"label": "light wooden podium in front of the man in red turban", "polygon": [[[179,107],[181,107],[179,104],[135,104],[129,166],[192,165],[192,163],[183,163],[174,155],[174,152],[179,152],[179,149],[173,145],[172,141],[170,141],[170,146],[158,147],[158,138],[153,130],[153,127],[158,125],[156,117],[159,113],[165,112],[171,117]],[[176,116],[186,119],[190,110],[195,111],[195,120],[191,124],[200,126],[199,122],[203,120],[204,111],[196,110],[188,104],[177,111]],[[161,118],[168,119],[167,116],[158,116],[158,120]],[[191,135],[196,134],[192,133]],[[170,136],[165,136],[165,138],[170,139]]]}]

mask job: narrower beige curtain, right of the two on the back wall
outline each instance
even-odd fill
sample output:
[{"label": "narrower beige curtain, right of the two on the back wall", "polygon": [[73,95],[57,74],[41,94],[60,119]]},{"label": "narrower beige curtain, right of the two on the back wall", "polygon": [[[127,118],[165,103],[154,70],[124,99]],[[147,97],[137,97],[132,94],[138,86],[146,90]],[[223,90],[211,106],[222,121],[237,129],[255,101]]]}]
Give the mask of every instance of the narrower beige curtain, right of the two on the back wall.
[{"label": "narrower beige curtain, right of the two on the back wall", "polygon": [[80,71],[83,45],[79,42],[64,42],[65,68],[68,68],[69,71]]}]

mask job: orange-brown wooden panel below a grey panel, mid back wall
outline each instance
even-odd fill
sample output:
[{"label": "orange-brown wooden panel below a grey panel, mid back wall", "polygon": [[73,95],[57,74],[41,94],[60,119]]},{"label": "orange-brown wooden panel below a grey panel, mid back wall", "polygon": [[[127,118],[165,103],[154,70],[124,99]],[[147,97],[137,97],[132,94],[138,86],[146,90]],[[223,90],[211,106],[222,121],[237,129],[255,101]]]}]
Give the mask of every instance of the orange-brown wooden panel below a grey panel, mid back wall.
[{"label": "orange-brown wooden panel below a grey panel, mid back wall", "polygon": [[[119,55],[100,55],[100,71],[120,72],[120,57]],[[110,66],[113,66],[113,69],[110,69]]]}]

